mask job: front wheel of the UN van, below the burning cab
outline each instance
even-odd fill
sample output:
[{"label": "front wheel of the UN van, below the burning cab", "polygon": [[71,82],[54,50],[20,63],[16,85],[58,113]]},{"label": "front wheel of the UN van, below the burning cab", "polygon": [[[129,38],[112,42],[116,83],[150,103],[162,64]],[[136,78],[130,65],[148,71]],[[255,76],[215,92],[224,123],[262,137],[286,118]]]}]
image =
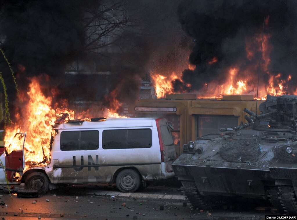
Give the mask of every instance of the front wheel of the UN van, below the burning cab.
[{"label": "front wheel of the UN van, below the burning cab", "polygon": [[37,190],[39,195],[44,195],[49,190],[48,177],[41,172],[29,174],[25,180],[25,189]]}]

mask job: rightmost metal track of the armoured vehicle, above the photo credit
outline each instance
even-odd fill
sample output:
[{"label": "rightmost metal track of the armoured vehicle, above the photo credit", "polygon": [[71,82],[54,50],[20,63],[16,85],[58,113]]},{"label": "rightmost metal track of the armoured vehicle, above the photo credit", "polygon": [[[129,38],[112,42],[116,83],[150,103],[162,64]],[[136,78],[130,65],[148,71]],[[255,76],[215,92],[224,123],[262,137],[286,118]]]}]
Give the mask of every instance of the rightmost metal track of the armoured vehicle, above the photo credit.
[{"label": "rightmost metal track of the armoured vehicle, above the photo credit", "polygon": [[293,186],[279,186],[279,201],[286,213],[297,214],[297,202]]}]

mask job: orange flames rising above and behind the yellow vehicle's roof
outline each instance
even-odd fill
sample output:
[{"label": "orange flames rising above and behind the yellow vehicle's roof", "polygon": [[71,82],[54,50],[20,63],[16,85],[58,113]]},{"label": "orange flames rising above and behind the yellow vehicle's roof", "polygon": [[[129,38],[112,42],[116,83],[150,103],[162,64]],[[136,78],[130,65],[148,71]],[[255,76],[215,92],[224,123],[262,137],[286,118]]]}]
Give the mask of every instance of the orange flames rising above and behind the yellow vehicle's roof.
[{"label": "orange flames rising above and behind the yellow vehicle's roof", "polygon": [[[268,25],[269,17],[265,19],[265,24]],[[198,98],[222,98],[223,95],[253,95],[254,98],[257,97],[257,81],[258,73],[267,75],[260,77],[259,90],[258,90],[258,99],[266,99],[266,95],[283,95],[286,94],[288,89],[287,82],[291,80],[291,75],[287,79],[282,79],[282,74],[279,73],[276,76],[272,75],[268,70],[268,65],[270,64],[270,53],[271,46],[269,45],[270,34],[257,34],[251,38],[246,38],[246,58],[249,60],[248,65],[245,65],[243,69],[241,63],[237,65],[230,66],[228,73],[222,75],[225,76],[224,82],[218,84],[216,80],[208,83],[204,83],[203,87],[194,91],[197,94]],[[258,54],[261,54],[260,58],[260,70],[259,70],[259,57]],[[211,61],[208,62],[208,65],[218,62],[217,57],[213,57]],[[241,67],[241,68],[239,68]],[[188,65],[188,69],[194,70],[195,66]],[[153,74],[151,72],[151,77],[154,81],[155,90],[157,93],[157,98],[165,97],[165,94],[173,94],[173,85],[172,81],[174,79],[179,79],[183,82],[181,78],[182,74],[176,74],[173,72],[170,76],[164,76],[163,74]],[[261,82],[261,79],[268,78],[267,82]],[[220,79],[222,81],[222,78]],[[187,89],[191,88],[191,85],[183,85]],[[182,87],[184,88],[184,87]],[[190,90],[187,90],[190,91]],[[184,91],[178,91],[181,93]],[[295,94],[297,94],[297,89]]]}]

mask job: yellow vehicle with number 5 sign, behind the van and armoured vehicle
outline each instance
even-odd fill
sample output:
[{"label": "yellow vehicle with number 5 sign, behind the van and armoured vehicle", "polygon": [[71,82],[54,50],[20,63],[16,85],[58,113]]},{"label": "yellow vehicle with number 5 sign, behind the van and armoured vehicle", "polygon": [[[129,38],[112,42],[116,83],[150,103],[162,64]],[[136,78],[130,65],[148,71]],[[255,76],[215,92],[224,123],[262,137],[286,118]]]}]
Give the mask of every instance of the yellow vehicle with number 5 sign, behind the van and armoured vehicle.
[{"label": "yellow vehicle with number 5 sign, behind the van and armoured vehicle", "polygon": [[140,99],[130,106],[136,117],[164,117],[172,122],[174,144],[180,155],[183,144],[246,123],[244,108],[256,111],[252,95],[224,95],[222,99],[197,99],[195,94],[166,95],[165,99]]}]

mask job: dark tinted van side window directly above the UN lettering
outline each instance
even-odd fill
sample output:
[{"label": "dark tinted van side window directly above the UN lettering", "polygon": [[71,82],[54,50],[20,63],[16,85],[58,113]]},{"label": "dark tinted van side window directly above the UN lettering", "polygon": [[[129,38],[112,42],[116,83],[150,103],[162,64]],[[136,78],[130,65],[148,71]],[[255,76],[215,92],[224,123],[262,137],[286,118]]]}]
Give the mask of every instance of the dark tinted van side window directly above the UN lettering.
[{"label": "dark tinted van side window directly above the UN lettering", "polygon": [[99,131],[62,131],[60,149],[95,150],[99,148]]}]

